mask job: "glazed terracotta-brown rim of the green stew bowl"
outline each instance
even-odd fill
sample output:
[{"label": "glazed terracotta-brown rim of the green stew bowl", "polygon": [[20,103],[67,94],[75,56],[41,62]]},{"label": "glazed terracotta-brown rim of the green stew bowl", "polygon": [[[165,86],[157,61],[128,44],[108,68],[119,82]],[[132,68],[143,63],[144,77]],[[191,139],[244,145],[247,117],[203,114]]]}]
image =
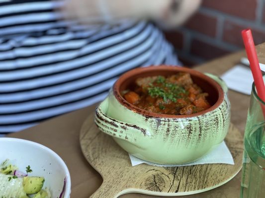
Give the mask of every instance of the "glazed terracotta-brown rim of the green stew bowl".
[{"label": "glazed terracotta-brown rim of the green stew bowl", "polygon": [[[210,108],[204,110],[204,111],[200,111],[198,113],[193,113],[190,115],[169,115],[169,114],[161,114],[161,113],[153,113],[153,112],[149,112],[147,110],[143,110],[137,106],[134,106],[133,104],[129,103],[127,100],[125,100],[121,94],[119,93],[119,88],[121,86],[121,84],[128,79],[131,76],[135,76],[138,75],[141,72],[145,72],[145,71],[154,71],[154,70],[169,70],[169,71],[178,71],[178,72],[187,72],[192,74],[193,76],[202,78],[204,80],[206,80],[209,84],[211,84],[212,86],[214,86],[217,91],[218,91],[218,99],[215,102],[214,105],[212,105]],[[159,66],[148,66],[148,67],[138,67],[136,69],[132,69],[129,70],[127,72],[125,72],[123,75],[121,75],[118,80],[114,83],[113,85],[113,94],[114,97],[119,101],[120,104],[122,104],[123,106],[127,107],[129,110],[132,110],[138,114],[144,115],[145,117],[155,117],[155,118],[191,118],[191,117],[196,117],[199,115],[203,115],[205,113],[208,113],[210,111],[215,110],[216,108],[218,108],[220,106],[220,104],[223,102],[224,100],[224,91],[221,87],[220,84],[218,84],[215,80],[213,80],[212,78],[206,76],[205,74],[196,71],[194,69],[190,69],[190,68],[186,68],[186,67],[180,67],[180,66],[172,66],[172,65],[159,65]]]}]

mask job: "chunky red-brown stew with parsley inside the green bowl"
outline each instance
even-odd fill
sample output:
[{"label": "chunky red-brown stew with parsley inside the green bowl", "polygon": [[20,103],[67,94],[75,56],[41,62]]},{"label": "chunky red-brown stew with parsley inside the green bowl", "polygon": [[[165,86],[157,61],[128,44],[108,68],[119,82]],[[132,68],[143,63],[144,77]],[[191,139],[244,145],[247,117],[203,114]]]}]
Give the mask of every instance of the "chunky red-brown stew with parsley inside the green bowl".
[{"label": "chunky red-brown stew with parsley inside the green bowl", "polygon": [[122,96],[131,104],[154,113],[189,115],[209,108],[208,93],[193,83],[190,74],[138,78]]}]

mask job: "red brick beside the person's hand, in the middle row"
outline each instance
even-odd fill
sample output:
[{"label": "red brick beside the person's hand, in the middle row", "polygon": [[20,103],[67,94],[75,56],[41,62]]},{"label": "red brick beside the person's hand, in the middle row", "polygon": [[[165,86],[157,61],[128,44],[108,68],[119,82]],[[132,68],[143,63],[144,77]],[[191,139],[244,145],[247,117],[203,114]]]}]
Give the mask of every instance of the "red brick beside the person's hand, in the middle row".
[{"label": "red brick beside the person's hand, in the middle row", "polygon": [[215,37],[217,18],[202,13],[196,13],[185,24],[185,27]]}]

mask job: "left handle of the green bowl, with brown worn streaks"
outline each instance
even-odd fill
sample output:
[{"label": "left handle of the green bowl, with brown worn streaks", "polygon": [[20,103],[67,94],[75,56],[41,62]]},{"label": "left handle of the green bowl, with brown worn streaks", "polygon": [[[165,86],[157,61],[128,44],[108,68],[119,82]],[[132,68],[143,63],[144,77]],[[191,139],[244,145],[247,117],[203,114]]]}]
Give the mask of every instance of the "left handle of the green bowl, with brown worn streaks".
[{"label": "left handle of the green bowl, with brown worn streaks", "polygon": [[142,138],[143,136],[149,135],[149,132],[142,127],[135,124],[121,122],[107,116],[100,108],[100,105],[95,111],[95,124],[104,133],[128,141],[134,145],[136,145],[139,137]]}]

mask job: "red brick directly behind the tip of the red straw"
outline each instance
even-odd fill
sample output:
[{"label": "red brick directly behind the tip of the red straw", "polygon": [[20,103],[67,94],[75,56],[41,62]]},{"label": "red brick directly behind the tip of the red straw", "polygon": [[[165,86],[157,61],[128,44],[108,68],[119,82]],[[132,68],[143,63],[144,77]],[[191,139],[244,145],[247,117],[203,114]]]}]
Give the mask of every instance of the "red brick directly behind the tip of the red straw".
[{"label": "red brick directly behind the tip of the red straw", "polygon": [[[223,40],[227,43],[237,45],[239,47],[244,47],[243,40],[241,37],[241,31],[251,28],[248,26],[238,25],[231,21],[225,21],[224,23],[224,32],[223,32]],[[254,42],[256,45],[265,42],[265,31],[257,30],[254,28],[252,29],[252,34],[254,38]]]}]

